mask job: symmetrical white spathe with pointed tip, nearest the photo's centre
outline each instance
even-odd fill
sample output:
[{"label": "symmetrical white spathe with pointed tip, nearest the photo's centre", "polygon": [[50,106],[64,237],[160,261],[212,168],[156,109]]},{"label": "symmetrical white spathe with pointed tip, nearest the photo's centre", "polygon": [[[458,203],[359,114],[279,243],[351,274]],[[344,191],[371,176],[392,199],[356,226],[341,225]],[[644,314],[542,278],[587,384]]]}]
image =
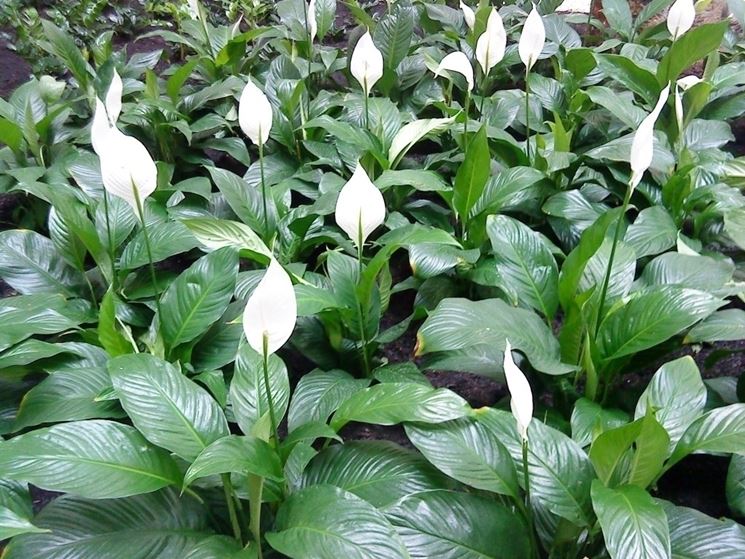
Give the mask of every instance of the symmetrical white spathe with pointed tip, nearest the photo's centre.
[{"label": "symmetrical white spathe with pointed tip, nearest the photo's centre", "polygon": [[358,248],[385,221],[383,195],[359,163],[352,178],[339,192],[334,217],[336,224]]}]

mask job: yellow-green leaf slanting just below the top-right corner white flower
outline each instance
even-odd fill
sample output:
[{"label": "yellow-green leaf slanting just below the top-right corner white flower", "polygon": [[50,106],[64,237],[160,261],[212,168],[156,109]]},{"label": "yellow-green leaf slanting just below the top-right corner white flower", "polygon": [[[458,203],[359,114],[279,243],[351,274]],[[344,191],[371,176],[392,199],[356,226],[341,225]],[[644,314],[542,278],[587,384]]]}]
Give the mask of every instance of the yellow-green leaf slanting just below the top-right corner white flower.
[{"label": "yellow-green leaf slanting just below the top-right corner white flower", "polygon": [[705,23],[678,37],[657,66],[660,85],[674,82],[683,70],[718,49],[728,28],[727,21]]}]

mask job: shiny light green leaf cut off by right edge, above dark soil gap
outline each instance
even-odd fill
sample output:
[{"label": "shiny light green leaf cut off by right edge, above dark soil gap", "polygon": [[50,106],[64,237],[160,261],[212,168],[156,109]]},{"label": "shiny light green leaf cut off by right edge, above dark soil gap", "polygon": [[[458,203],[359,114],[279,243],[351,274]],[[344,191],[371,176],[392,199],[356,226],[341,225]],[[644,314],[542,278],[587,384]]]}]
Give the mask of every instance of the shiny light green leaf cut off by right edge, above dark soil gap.
[{"label": "shiny light green leaf cut off by right edge, above dark soil gap", "polygon": [[694,421],[670,461],[678,462],[692,452],[745,453],[745,404],[716,408]]}]

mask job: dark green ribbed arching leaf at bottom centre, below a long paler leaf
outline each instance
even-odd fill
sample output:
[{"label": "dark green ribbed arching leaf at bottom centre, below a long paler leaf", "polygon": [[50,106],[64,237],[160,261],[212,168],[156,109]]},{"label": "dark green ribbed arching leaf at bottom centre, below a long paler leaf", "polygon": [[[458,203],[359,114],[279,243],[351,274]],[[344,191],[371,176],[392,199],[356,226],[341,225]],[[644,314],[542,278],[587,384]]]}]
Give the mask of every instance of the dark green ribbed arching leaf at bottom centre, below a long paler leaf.
[{"label": "dark green ribbed arching leaf at bottom centre, below a long paler leaf", "polygon": [[311,461],[300,486],[315,485],[334,485],[380,508],[412,493],[443,489],[448,480],[411,450],[389,441],[353,441]]}]

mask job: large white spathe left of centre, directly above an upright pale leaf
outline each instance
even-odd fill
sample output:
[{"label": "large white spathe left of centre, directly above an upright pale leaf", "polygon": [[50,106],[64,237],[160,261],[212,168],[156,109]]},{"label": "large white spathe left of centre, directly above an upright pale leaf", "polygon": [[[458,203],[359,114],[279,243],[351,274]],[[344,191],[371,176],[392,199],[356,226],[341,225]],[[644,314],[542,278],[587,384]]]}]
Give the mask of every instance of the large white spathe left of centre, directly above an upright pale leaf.
[{"label": "large white spathe left of centre, directly above an upright pale leaf", "polygon": [[271,259],[264,277],[246,302],[243,331],[254,351],[273,354],[290,339],[297,322],[297,300],[292,280],[284,268]]}]

